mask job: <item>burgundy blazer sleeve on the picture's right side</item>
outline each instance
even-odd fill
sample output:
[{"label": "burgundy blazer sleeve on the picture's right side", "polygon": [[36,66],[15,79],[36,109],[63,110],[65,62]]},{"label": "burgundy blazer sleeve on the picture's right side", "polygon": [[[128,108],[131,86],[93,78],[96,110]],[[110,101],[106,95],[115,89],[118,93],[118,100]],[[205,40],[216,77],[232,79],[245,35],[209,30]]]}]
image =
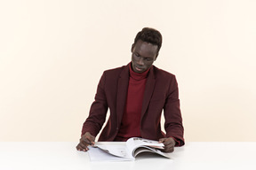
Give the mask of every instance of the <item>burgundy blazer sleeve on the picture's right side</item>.
[{"label": "burgundy blazer sleeve on the picture's right side", "polygon": [[184,145],[184,128],[180,112],[179,89],[174,75],[170,81],[168,96],[164,104],[164,118],[166,137],[173,137],[177,142],[176,145]]}]

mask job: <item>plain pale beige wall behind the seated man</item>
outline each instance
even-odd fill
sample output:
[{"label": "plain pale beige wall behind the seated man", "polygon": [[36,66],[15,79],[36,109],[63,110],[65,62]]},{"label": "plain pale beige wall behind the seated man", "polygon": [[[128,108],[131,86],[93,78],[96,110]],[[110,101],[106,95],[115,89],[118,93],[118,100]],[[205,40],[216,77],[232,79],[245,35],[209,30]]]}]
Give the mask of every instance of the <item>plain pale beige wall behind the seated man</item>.
[{"label": "plain pale beige wall behind the seated man", "polygon": [[[157,2],[157,3],[156,3]],[[256,141],[256,1],[0,1],[0,141],[78,141],[101,73],[164,36],[187,141]]]}]

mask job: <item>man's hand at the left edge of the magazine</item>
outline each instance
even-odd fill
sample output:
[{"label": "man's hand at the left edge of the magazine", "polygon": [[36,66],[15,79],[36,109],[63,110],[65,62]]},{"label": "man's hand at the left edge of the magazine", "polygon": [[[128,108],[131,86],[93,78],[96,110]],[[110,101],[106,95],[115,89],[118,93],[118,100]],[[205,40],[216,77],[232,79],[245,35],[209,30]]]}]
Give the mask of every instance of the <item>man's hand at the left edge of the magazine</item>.
[{"label": "man's hand at the left edge of the magazine", "polygon": [[94,145],[95,144],[95,136],[91,135],[90,132],[86,132],[84,135],[82,135],[80,139],[80,143],[77,144],[76,150],[77,151],[88,151],[88,145]]}]

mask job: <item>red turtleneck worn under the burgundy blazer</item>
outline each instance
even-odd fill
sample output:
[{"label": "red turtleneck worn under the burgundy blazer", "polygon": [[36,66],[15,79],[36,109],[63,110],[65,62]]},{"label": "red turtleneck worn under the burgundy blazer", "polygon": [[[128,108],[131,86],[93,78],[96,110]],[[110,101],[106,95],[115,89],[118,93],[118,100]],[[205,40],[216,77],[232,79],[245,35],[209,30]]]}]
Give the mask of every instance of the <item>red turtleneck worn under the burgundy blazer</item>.
[{"label": "red turtleneck worn under the burgundy blazer", "polygon": [[130,67],[130,79],[123,119],[115,141],[126,141],[130,137],[140,137],[140,115],[148,71],[135,73]]}]

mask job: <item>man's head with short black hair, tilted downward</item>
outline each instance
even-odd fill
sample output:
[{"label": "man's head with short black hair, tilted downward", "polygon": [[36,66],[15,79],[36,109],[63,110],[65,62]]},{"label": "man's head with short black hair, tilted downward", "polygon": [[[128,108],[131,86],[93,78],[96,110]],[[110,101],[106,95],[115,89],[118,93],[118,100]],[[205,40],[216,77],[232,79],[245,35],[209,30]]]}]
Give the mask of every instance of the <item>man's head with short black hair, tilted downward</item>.
[{"label": "man's head with short black hair, tilted downward", "polygon": [[132,44],[132,70],[143,73],[148,70],[158,56],[162,46],[162,35],[153,28],[144,27]]}]

